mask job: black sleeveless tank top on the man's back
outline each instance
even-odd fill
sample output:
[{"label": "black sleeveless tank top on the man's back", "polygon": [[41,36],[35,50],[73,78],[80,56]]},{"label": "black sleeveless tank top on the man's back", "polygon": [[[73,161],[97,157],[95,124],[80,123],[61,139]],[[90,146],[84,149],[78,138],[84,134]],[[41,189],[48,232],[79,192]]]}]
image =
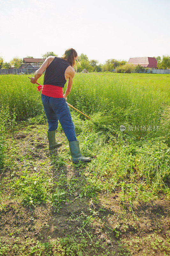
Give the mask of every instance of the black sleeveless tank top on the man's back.
[{"label": "black sleeveless tank top on the man's back", "polygon": [[64,87],[64,84],[66,83],[64,74],[68,66],[70,66],[69,62],[59,57],[55,57],[46,68],[43,84]]}]

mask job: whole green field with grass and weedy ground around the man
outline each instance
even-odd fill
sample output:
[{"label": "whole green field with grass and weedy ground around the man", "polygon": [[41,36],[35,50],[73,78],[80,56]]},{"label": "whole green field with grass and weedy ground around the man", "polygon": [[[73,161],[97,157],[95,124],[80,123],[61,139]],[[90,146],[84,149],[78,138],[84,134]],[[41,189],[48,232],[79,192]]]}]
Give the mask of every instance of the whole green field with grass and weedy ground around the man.
[{"label": "whole green field with grass and weedy ground around the man", "polygon": [[[10,220],[8,213],[16,218],[20,208],[23,216],[33,218],[27,226],[21,221],[7,229],[0,226],[0,255],[31,255],[31,250],[32,255],[58,256],[169,255],[169,229],[161,228],[170,221],[170,75],[75,74],[67,101],[92,118],[70,109],[81,153],[92,157],[86,165],[72,164],[60,125],[56,139],[63,146],[49,154],[46,117],[35,86],[26,75],[0,76],[0,211]],[[126,130],[120,131],[120,125]],[[47,218],[40,206],[51,220],[65,220],[64,226],[73,219],[70,228],[58,228],[54,235],[50,228],[60,222],[48,218],[49,231],[40,232],[38,218]],[[148,209],[147,222],[142,218]],[[105,234],[112,246],[98,234]],[[12,251],[13,246],[18,249]]]}]

